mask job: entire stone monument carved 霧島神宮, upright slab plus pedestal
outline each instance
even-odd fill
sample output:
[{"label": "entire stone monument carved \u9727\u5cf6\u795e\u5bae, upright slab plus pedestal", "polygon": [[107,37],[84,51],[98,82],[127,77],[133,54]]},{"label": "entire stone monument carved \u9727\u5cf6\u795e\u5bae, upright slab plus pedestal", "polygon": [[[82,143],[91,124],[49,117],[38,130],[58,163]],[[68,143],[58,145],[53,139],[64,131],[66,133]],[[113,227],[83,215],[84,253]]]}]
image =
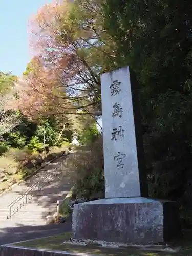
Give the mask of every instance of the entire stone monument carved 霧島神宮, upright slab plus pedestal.
[{"label": "entire stone monument carved \u9727\u5cf6\u795e\u5bae, upright slab plus pedestal", "polygon": [[136,83],[129,67],[101,75],[105,199],[76,204],[73,238],[159,243],[180,233],[175,202],[147,198]]}]

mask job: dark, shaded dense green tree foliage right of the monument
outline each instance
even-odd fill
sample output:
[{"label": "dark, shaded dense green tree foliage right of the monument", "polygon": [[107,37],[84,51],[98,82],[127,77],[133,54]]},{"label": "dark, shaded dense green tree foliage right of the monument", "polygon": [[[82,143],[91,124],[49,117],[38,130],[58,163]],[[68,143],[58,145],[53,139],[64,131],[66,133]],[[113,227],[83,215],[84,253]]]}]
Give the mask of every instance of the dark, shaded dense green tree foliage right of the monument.
[{"label": "dark, shaded dense green tree foliage right of the monument", "polygon": [[139,82],[150,193],[179,200],[185,211],[192,164],[190,10],[190,1],[103,1],[117,66],[129,65]]}]

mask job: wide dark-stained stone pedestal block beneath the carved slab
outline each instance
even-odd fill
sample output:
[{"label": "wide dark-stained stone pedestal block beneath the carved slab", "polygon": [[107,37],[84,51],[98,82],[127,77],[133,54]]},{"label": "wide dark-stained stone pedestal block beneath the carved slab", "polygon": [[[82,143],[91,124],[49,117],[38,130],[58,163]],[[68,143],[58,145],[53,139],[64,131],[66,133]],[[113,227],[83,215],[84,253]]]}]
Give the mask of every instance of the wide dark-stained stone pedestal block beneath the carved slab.
[{"label": "wide dark-stained stone pedestal block beneath the carved slab", "polygon": [[168,242],[180,233],[176,202],[139,197],[74,205],[74,239],[146,244]]}]

